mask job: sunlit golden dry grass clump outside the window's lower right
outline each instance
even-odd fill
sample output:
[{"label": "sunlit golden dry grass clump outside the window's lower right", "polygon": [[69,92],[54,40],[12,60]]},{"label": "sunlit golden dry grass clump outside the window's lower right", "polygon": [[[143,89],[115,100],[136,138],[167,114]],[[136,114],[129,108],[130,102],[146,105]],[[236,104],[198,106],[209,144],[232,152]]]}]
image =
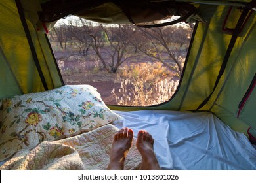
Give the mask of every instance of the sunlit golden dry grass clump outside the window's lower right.
[{"label": "sunlit golden dry grass clump outside the window's lower right", "polygon": [[179,80],[165,73],[161,63],[130,65],[119,73],[120,88],[113,88],[117,105],[149,106],[168,101],[175,93]]}]

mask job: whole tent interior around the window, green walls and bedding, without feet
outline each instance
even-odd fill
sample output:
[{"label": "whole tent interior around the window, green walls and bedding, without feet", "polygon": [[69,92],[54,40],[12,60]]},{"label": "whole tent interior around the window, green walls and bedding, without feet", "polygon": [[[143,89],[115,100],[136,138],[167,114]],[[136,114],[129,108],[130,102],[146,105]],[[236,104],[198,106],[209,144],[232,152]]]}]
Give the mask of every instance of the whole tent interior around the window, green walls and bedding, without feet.
[{"label": "whole tent interior around the window, green walls and bedding, without feet", "polygon": [[[133,129],[135,139],[140,129],[150,132],[161,169],[256,169],[256,1],[150,3],[0,2],[1,169],[106,169],[122,127]],[[72,14],[152,29],[166,16],[162,9],[194,25],[171,99],[108,105],[94,87],[64,83],[47,37],[57,20]],[[139,169],[140,160],[132,147],[125,169]]]}]

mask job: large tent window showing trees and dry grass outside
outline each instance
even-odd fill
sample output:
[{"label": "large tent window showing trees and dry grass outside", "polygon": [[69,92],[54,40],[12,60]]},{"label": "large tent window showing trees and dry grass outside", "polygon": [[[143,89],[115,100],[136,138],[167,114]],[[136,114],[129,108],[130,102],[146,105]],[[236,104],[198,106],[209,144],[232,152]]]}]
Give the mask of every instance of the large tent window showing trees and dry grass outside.
[{"label": "large tent window showing trees and dry grass outside", "polygon": [[49,32],[65,84],[91,84],[108,105],[150,106],[171,99],[193,25],[144,29],[75,16]]}]

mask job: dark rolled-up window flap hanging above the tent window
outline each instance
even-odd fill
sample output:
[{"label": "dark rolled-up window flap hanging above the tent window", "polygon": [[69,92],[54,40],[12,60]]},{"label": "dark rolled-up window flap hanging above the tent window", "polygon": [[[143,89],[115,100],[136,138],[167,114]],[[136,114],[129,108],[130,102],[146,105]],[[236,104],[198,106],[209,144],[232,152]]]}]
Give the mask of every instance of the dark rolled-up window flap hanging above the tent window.
[{"label": "dark rolled-up window flap hanging above the tent window", "polygon": [[[41,3],[41,22],[54,22],[74,14],[81,18],[104,23],[136,24],[140,27],[159,27],[193,21],[196,7],[190,3],[169,1],[83,1],[49,0]],[[174,18],[176,17],[176,18]],[[178,18],[179,17],[179,18]],[[161,22],[164,20],[164,22]]]}]

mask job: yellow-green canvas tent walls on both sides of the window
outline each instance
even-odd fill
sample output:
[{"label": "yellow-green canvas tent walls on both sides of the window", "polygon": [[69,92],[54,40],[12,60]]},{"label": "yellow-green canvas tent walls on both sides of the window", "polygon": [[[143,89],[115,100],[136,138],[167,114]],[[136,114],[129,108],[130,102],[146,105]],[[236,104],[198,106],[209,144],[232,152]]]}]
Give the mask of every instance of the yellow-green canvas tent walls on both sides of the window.
[{"label": "yellow-green canvas tent walls on both sides of the window", "polygon": [[[242,10],[234,7],[226,18],[230,11],[229,5],[197,2],[198,12],[206,24],[196,24],[182,81],[172,99],[153,107],[110,108],[194,111],[209,96],[232,39],[232,33],[223,31],[223,26],[236,27]],[[39,0],[0,2],[0,99],[51,90],[63,85],[47,37],[37,30],[37,12],[40,10]],[[215,91],[198,111],[211,111],[232,129],[245,134],[251,127],[250,133],[256,137],[256,91],[253,90],[256,71],[256,12],[249,12]]]}]

